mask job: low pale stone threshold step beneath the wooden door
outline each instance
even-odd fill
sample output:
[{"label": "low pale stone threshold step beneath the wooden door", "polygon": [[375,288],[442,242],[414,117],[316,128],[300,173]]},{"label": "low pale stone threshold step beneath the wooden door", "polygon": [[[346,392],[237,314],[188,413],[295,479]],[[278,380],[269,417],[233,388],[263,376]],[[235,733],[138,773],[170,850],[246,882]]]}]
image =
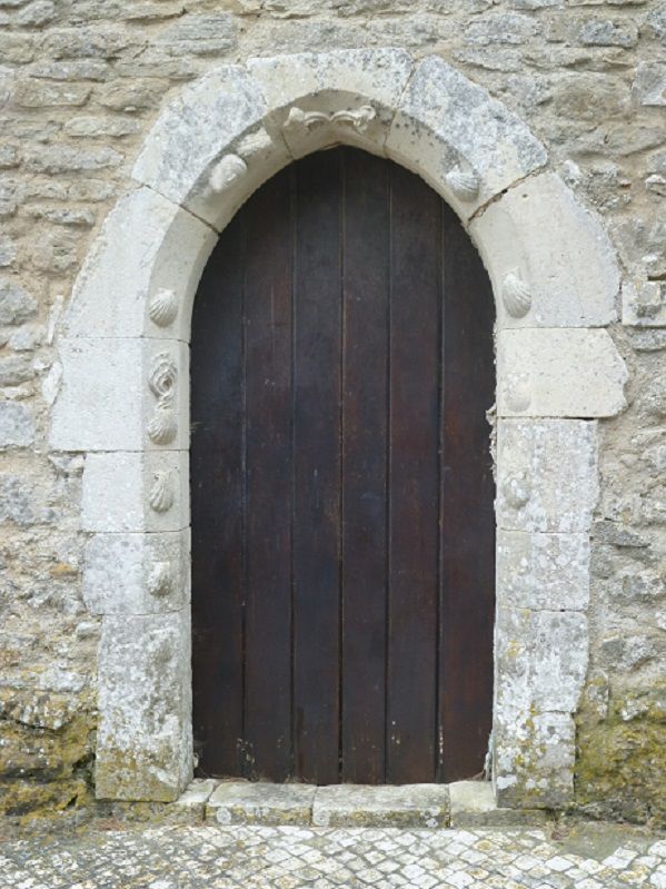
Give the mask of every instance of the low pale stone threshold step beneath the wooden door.
[{"label": "low pale stone threshold step beneath the wooden door", "polygon": [[208,823],[460,828],[544,823],[543,810],[498,809],[484,781],[365,786],[197,780],[176,803]]}]

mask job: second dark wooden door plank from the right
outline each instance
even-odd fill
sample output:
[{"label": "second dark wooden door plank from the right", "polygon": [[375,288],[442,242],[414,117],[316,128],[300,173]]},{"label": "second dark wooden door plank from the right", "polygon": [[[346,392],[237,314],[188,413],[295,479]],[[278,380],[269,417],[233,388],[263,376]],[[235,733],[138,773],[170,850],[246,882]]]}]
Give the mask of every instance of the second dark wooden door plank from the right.
[{"label": "second dark wooden door plank from the right", "polygon": [[440,200],[391,168],[388,781],[433,780]]}]

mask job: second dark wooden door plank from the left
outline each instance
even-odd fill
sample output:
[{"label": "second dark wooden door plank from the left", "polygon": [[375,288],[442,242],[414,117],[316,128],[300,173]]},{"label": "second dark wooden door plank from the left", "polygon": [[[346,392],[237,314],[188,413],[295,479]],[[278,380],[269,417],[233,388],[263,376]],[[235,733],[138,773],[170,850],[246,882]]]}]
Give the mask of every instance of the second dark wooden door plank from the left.
[{"label": "second dark wooden door plank from the left", "polygon": [[292,752],[290,176],[269,180],[245,211],[245,774],[274,781],[289,777]]}]

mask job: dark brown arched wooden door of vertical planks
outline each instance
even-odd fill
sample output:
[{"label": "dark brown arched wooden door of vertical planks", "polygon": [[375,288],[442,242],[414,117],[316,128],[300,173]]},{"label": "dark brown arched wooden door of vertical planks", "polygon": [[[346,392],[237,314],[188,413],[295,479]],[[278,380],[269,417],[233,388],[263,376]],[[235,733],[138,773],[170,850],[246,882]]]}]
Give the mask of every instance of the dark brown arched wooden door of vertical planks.
[{"label": "dark brown arched wooden door of vertical planks", "polygon": [[481,771],[493,320],[453,211],[359,150],[294,164],[222,234],[191,352],[200,774]]}]

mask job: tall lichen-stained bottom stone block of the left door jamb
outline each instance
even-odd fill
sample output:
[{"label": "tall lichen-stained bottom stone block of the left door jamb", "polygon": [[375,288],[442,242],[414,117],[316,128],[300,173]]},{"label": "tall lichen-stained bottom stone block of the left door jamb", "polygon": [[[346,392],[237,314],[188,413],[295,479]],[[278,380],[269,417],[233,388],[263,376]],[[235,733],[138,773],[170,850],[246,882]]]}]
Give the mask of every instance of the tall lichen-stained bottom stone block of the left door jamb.
[{"label": "tall lichen-stained bottom stone block of the left door jamb", "polygon": [[98,704],[98,799],[178,799],[192,773],[189,609],[103,619]]}]

